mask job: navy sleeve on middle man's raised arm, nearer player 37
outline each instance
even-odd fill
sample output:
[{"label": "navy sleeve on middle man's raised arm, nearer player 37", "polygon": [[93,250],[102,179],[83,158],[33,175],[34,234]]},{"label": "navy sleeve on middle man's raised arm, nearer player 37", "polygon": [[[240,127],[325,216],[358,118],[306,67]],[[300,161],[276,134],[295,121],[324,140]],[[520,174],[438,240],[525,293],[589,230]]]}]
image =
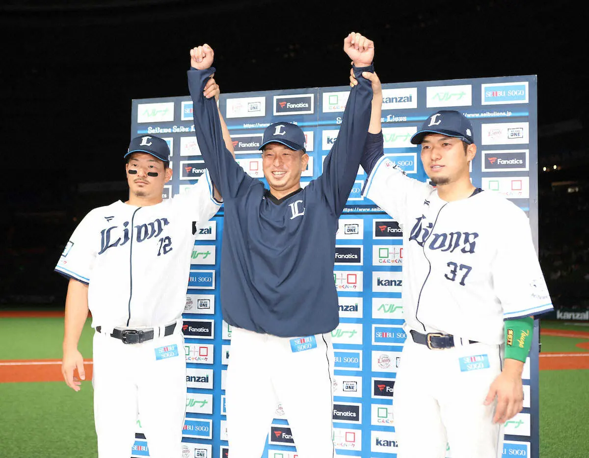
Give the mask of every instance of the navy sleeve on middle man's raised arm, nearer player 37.
[{"label": "navy sleeve on middle man's raised arm, nearer player 37", "polygon": [[322,175],[316,180],[337,217],[342,214],[358,175],[372,108],[372,85],[362,77],[362,72],[373,72],[374,67],[353,69],[359,84],[350,90],[337,140],[323,162]]}]

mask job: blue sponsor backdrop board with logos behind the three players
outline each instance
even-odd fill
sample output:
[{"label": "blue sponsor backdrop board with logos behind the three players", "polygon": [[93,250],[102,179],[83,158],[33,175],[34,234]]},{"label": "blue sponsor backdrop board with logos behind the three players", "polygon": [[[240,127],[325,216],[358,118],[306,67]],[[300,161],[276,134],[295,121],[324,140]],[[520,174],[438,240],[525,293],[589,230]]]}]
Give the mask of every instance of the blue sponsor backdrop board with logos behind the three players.
[{"label": "blue sponsor backdrop board with logos behind the three players", "polygon": [[[249,175],[266,183],[257,149],[264,128],[276,121],[295,122],[305,132],[310,156],[302,177],[305,186],[321,174],[323,160],[337,141],[349,89],[221,94],[219,108],[229,127],[236,160]],[[421,181],[427,176],[419,147],[409,142],[412,134],[438,109],[464,113],[472,122],[478,146],[472,162],[473,184],[504,195],[528,214],[538,250],[535,75],[383,84],[382,108],[385,154]],[[183,193],[203,173],[190,97],[134,100],[131,138],[141,134],[158,135],[170,145],[173,178],[164,198]],[[402,328],[403,243],[396,221],[360,195],[365,179],[359,168],[337,231],[333,280],[341,320],[332,331],[333,443],[339,455],[384,458],[394,457],[398,447],[392,396],[406,338]],[[195,234],[188,278],[183,315],[187,363],[183,456],[190,458],[226,457],[228,453],[224,381],[231,327],[223,321],[219,298],[222,232],[223,207]],[[522,377],[524,409],[505,424],[506,457],[538,457],[537,321],[534,330],[534,346]],[[294,458],[292,444],[288,412],[277,404],[263,456]],[[141,433],[138,422],[132,454],[148,456],[148,449],[149,438]],[[447,456],[452,456],[452,450],[448,449]]]}]

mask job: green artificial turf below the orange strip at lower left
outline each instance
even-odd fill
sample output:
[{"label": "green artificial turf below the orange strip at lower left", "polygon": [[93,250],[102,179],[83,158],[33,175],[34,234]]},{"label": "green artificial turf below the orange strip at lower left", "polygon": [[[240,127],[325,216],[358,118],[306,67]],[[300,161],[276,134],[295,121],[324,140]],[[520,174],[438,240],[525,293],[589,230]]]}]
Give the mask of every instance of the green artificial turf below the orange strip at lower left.
[{"label": "green artificial turf below the orange strip at lower left", "polygon": [[92,409],[90,381],[0,383],[0,457],[95,458]]}]

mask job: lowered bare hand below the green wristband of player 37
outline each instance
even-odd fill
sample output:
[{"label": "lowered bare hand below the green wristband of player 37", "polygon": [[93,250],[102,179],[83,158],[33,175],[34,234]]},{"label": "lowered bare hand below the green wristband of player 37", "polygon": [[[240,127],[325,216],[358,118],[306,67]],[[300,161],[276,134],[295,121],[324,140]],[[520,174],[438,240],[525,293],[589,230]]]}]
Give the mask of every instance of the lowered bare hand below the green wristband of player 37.
[{"label": "lowered bare hand below the green wristband of player 37", "polygon": [[[509,360],[505,361],[507,362]],[[504,369],[493,383],[491,383],[491,387],[485,398],[485,406],[491,404],[495,397],[497,397],[497,407],[495,407],[493,423],[505,423],[521,412],[524,406],[524,389],[521,383],[521,371],[518,373],[518,371]]]}]

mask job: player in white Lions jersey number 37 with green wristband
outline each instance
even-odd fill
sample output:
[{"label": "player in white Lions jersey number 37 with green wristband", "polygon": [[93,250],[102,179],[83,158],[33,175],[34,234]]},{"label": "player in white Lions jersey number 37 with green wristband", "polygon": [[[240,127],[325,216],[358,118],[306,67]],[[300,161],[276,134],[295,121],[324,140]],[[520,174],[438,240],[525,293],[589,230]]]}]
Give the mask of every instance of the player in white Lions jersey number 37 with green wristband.
[{"label": "player in white Lions jersey number 37 with green wristband", "polygon": [[458,111],[431,114],[411,138],[431,184],[407,177],[383,155],[380,81],[364,76],[375,95],[363,195],[398,221],[406,259],[398,456],[443,458],[448,443],[453,458],[501,457],[503,425],[522,409],[533,316],[552,310],[530,223],[470,181],[477,147]]}]

